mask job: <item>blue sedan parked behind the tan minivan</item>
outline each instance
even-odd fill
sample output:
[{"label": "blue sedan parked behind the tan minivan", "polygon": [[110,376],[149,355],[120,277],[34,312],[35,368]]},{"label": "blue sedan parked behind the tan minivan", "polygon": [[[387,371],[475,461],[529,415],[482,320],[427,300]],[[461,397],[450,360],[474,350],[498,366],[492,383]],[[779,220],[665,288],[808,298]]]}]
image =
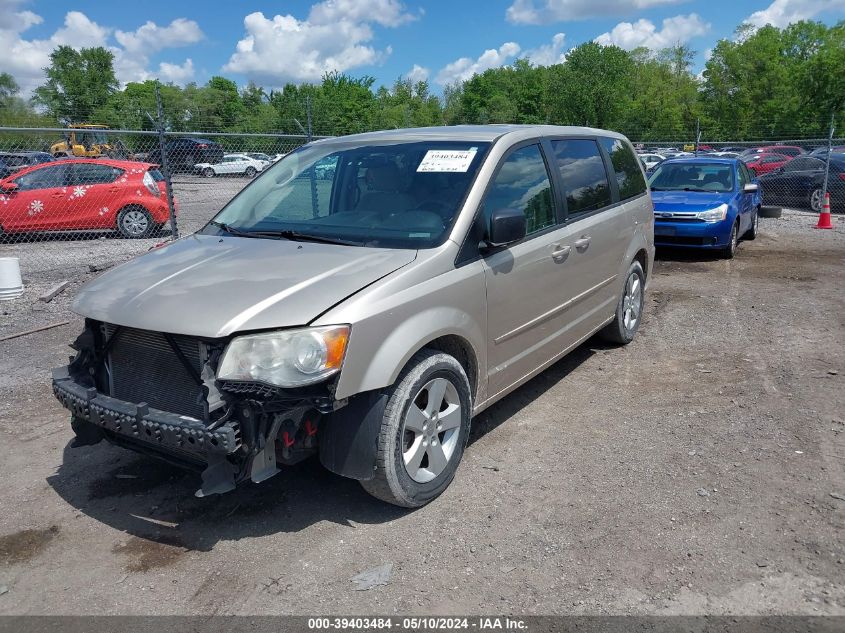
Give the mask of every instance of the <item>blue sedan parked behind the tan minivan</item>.
[{"label": "blue sedan parked behind the tan minivan", "polygon": [[654,243],[736,253],[740,239],[757,237],[762,194],[735,158],[676,158],[649,178],[654,201]]}]

